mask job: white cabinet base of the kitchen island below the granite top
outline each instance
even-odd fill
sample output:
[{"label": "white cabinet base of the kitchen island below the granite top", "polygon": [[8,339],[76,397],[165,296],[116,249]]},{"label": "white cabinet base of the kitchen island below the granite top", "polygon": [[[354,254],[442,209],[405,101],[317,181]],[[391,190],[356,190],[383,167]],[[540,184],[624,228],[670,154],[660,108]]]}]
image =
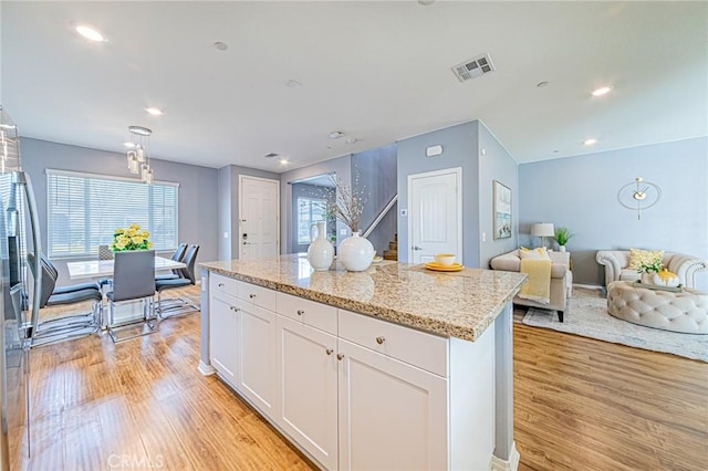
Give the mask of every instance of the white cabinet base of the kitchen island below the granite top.
[{"label": "white cabinet base of the kitchen island below the granite top", "polygon": [[445,338],[211,276],[214,366],[320,465],[489,469],[493,328]]}]

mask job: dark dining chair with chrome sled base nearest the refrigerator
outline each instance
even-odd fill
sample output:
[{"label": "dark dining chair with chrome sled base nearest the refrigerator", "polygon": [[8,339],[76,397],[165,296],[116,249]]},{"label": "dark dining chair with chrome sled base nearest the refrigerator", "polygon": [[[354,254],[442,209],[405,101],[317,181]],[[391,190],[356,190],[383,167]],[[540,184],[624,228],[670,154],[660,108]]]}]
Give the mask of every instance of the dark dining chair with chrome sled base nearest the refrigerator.
[{"label": "dark dining chair with chrome sled base nearest the refrigerator", "polygon": [[[70,286],[56,286],[56,268],[44,257],[41,258],[42,291],[40,299],[34,302],[39,307],[53,307],[60,305],[77,304],[92,301],[92,308],[88,313],[70,314],[40,322],[39,318],[31,320],[31,329],[28,338],[31,346],[53,344],[56,342],[79,338],[91,335],[101,326],[103,314],[103,295],[97,283],[80,283]],[[28,264],[34,273],[34,254],[27,254]]]}]

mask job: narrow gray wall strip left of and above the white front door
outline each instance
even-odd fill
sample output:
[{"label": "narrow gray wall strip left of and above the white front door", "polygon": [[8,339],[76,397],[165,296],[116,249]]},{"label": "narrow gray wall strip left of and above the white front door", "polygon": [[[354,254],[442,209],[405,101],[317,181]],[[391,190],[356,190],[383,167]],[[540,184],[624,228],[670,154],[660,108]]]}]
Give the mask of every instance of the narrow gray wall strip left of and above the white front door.
[{"label": "narrow gray wall strip left of and above the white front door", "polygon": [[[272,171],[259,170],[249,167],[239,167],[229,165],[221,167],[219,170],[219,213],[218,213],[218,233],[219,233],[219,260],[238,259],[241,253],[239,250],[239,176],[268,178],[271,180],[280,180],[278,174]],[[281,197],[282,201],[282,190]],[[282,209],[281,209],[282,221]],[[282,222],[281,222],[282,223]],[[225,237],[226,234],[226,237]],[[281,239],[282,247],[282,239]],[[282,249],[281,249],[282,250]]]}]

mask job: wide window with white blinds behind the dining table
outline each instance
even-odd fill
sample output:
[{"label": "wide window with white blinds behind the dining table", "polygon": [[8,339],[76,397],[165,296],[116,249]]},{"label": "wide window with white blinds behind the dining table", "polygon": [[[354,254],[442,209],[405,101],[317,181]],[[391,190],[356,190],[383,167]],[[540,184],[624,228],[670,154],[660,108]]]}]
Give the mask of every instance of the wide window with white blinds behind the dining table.
[{"label": "wide window with white blinds behind the dining table", "polygon": [[177,248],[177,184],[46,170],[50,258],[97,255],[116,228],[138,223],[153,249]]}]

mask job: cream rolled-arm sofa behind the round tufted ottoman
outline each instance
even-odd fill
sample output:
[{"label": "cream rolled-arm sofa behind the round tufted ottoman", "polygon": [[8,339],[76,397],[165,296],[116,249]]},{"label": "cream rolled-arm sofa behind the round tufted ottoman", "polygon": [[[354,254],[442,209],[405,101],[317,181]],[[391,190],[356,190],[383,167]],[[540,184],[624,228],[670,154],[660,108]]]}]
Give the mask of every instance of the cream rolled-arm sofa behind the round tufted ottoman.
[{"label": "cream rolled-arm sofa behind the round tufted ottoman", "polygon": [[[638,281],[641,275],[629,269],[628,250],[600,250],[595,260],[605,266],[605,286],[613,281]],[[680,284],[685,287],[695,287],[696,273],[705,271],[708,263],[697,257],[683,253],[665,252],[662,264],[671,273],[676,273]]]}]

